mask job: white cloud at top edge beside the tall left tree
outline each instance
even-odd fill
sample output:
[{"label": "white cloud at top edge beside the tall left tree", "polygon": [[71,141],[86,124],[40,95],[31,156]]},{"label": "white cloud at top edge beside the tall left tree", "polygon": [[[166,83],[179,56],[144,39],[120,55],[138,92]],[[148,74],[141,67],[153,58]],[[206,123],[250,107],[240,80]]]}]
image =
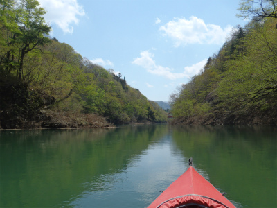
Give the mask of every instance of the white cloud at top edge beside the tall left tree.
[{"label": "white cloud at top edge beside the tall left tree", "polygon": [[46,21],[56,24],[64,33],[73,33],[72,24],[78,24],[78,16],[85,12],[77,0],[38,0],[47,11]]}]

